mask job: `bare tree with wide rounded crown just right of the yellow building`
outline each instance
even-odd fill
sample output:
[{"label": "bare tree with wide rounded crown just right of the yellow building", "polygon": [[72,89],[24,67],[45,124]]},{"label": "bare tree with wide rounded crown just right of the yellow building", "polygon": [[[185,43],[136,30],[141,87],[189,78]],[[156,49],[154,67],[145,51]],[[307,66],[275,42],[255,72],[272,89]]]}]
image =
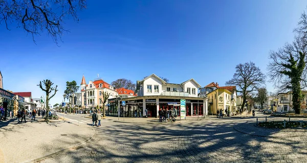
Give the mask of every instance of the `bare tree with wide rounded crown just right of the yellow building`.
[{"label": "bare tree with wide rounded crown just right of the yellow building", "polygon": [[257,90],[261,85],[265,84],[266,76],[260,71],[259,67],[256,67],[255,63],[247,62],[244,64],[238,64],[235,67],[236,72],[233,78],[226,82],[226,85],[236,85],[237,92],[243,95],[243,104],[241,109],[244,109],[247,95]]}]

